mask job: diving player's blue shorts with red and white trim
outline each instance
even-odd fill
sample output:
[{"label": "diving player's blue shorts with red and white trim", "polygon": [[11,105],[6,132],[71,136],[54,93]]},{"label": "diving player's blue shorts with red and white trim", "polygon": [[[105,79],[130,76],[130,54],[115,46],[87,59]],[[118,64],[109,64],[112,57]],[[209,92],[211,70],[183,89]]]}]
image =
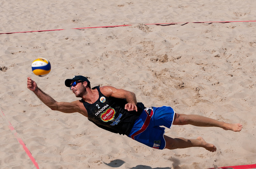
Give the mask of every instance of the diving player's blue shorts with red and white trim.
[{"label": "diving player's blue shorts with red and white trim", "polygon": [[171,128],[175,112],[169,106],[150,107],[142,111],[128,137],[149,147],[165,148],[164,127]]}]

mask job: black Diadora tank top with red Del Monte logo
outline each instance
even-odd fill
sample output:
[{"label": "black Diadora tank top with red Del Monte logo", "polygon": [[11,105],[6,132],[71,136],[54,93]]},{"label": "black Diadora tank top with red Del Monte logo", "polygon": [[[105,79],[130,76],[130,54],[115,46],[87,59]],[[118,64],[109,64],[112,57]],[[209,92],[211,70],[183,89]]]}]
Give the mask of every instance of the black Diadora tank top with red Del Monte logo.
[{"label": "black Diadora tank top with red Del Monte logo", "polygon": [[124,105],[127,103],[125,99],[107,97],[100,92],[99,86],[92,89],[95,88],[99,92],[99,99],[95,103],[90,104],[82,99],[88,113],[88,120],[102,129],[120,135],[128,135],[135,120],[143,111],[144,105],[137,103],[138,111],[127,111],[124,109]]}]

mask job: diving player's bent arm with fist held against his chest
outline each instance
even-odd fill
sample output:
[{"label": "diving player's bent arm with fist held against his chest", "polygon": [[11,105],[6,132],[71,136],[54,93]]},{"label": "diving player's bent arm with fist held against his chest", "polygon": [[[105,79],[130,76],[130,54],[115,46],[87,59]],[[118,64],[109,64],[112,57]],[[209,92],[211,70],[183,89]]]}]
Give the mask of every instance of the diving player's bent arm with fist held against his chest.
[{"label": "diving player's bent arm with fist held against his chest", "polygon": [[124,90],[124,89],[118,89],[114,88],[112,86],[103,86],[100,87],[100,92],[105,95],[105,96],[111,96],[119,99],[126,99],[127,104],[125,104],[124,109],[128,111],[136,110],[138,111],[137,108],[137,100],[136,96],[133,92]]}]

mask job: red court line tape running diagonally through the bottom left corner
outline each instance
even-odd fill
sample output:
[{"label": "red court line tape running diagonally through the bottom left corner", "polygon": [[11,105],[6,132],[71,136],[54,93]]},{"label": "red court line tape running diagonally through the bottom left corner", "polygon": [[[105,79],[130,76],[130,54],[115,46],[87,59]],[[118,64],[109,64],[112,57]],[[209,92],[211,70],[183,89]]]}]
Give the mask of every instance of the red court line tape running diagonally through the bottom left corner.
[{"label": "red court line tape running diagonally through the bottom left corner", "polygon": [[[0,109],[1,110],[1,109]],[[1,110],[2,111],[2,110]],[[2,114],[4,115],[4,112],[2,111]],[[8,121],[5,117],[5,121]],[[30,160],[33,162],[33,164],[36,166],[37,169],[39,169],[39,166],[35,160],[35,158],[32,156],[31,152],[28,150],[26,144],[21,140],[21,138],[18,136],[18,133],[16,132],[16,130],[13,128],[12,124],[8,121],[8,127],[10,128],[11,131],[13,131],[12,133],[14,134],[14,136],[16,137],[16,139],[18,140],[18,142],[22,145],[23,149],[25,150],[25,152],[28,154],[28,157],[30,158]]]}]

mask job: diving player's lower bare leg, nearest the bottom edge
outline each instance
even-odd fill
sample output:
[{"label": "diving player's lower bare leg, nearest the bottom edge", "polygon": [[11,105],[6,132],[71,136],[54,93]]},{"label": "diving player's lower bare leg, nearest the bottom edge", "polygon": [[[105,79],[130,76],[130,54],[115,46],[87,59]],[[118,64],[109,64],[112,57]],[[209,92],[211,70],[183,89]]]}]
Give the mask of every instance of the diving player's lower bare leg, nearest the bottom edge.
[{"label": "diving player's lower bare leg, nearest the bottom edge", "polygon": [[202,137],[197,137],[196,139],[186,139],[186,138],[171,138],[164,135],[166,142],[165,148],[173,150],[177,148],[188,148],[188,147],[203,147],[208,151],[216,151],[215,145],[206,143]]}]

